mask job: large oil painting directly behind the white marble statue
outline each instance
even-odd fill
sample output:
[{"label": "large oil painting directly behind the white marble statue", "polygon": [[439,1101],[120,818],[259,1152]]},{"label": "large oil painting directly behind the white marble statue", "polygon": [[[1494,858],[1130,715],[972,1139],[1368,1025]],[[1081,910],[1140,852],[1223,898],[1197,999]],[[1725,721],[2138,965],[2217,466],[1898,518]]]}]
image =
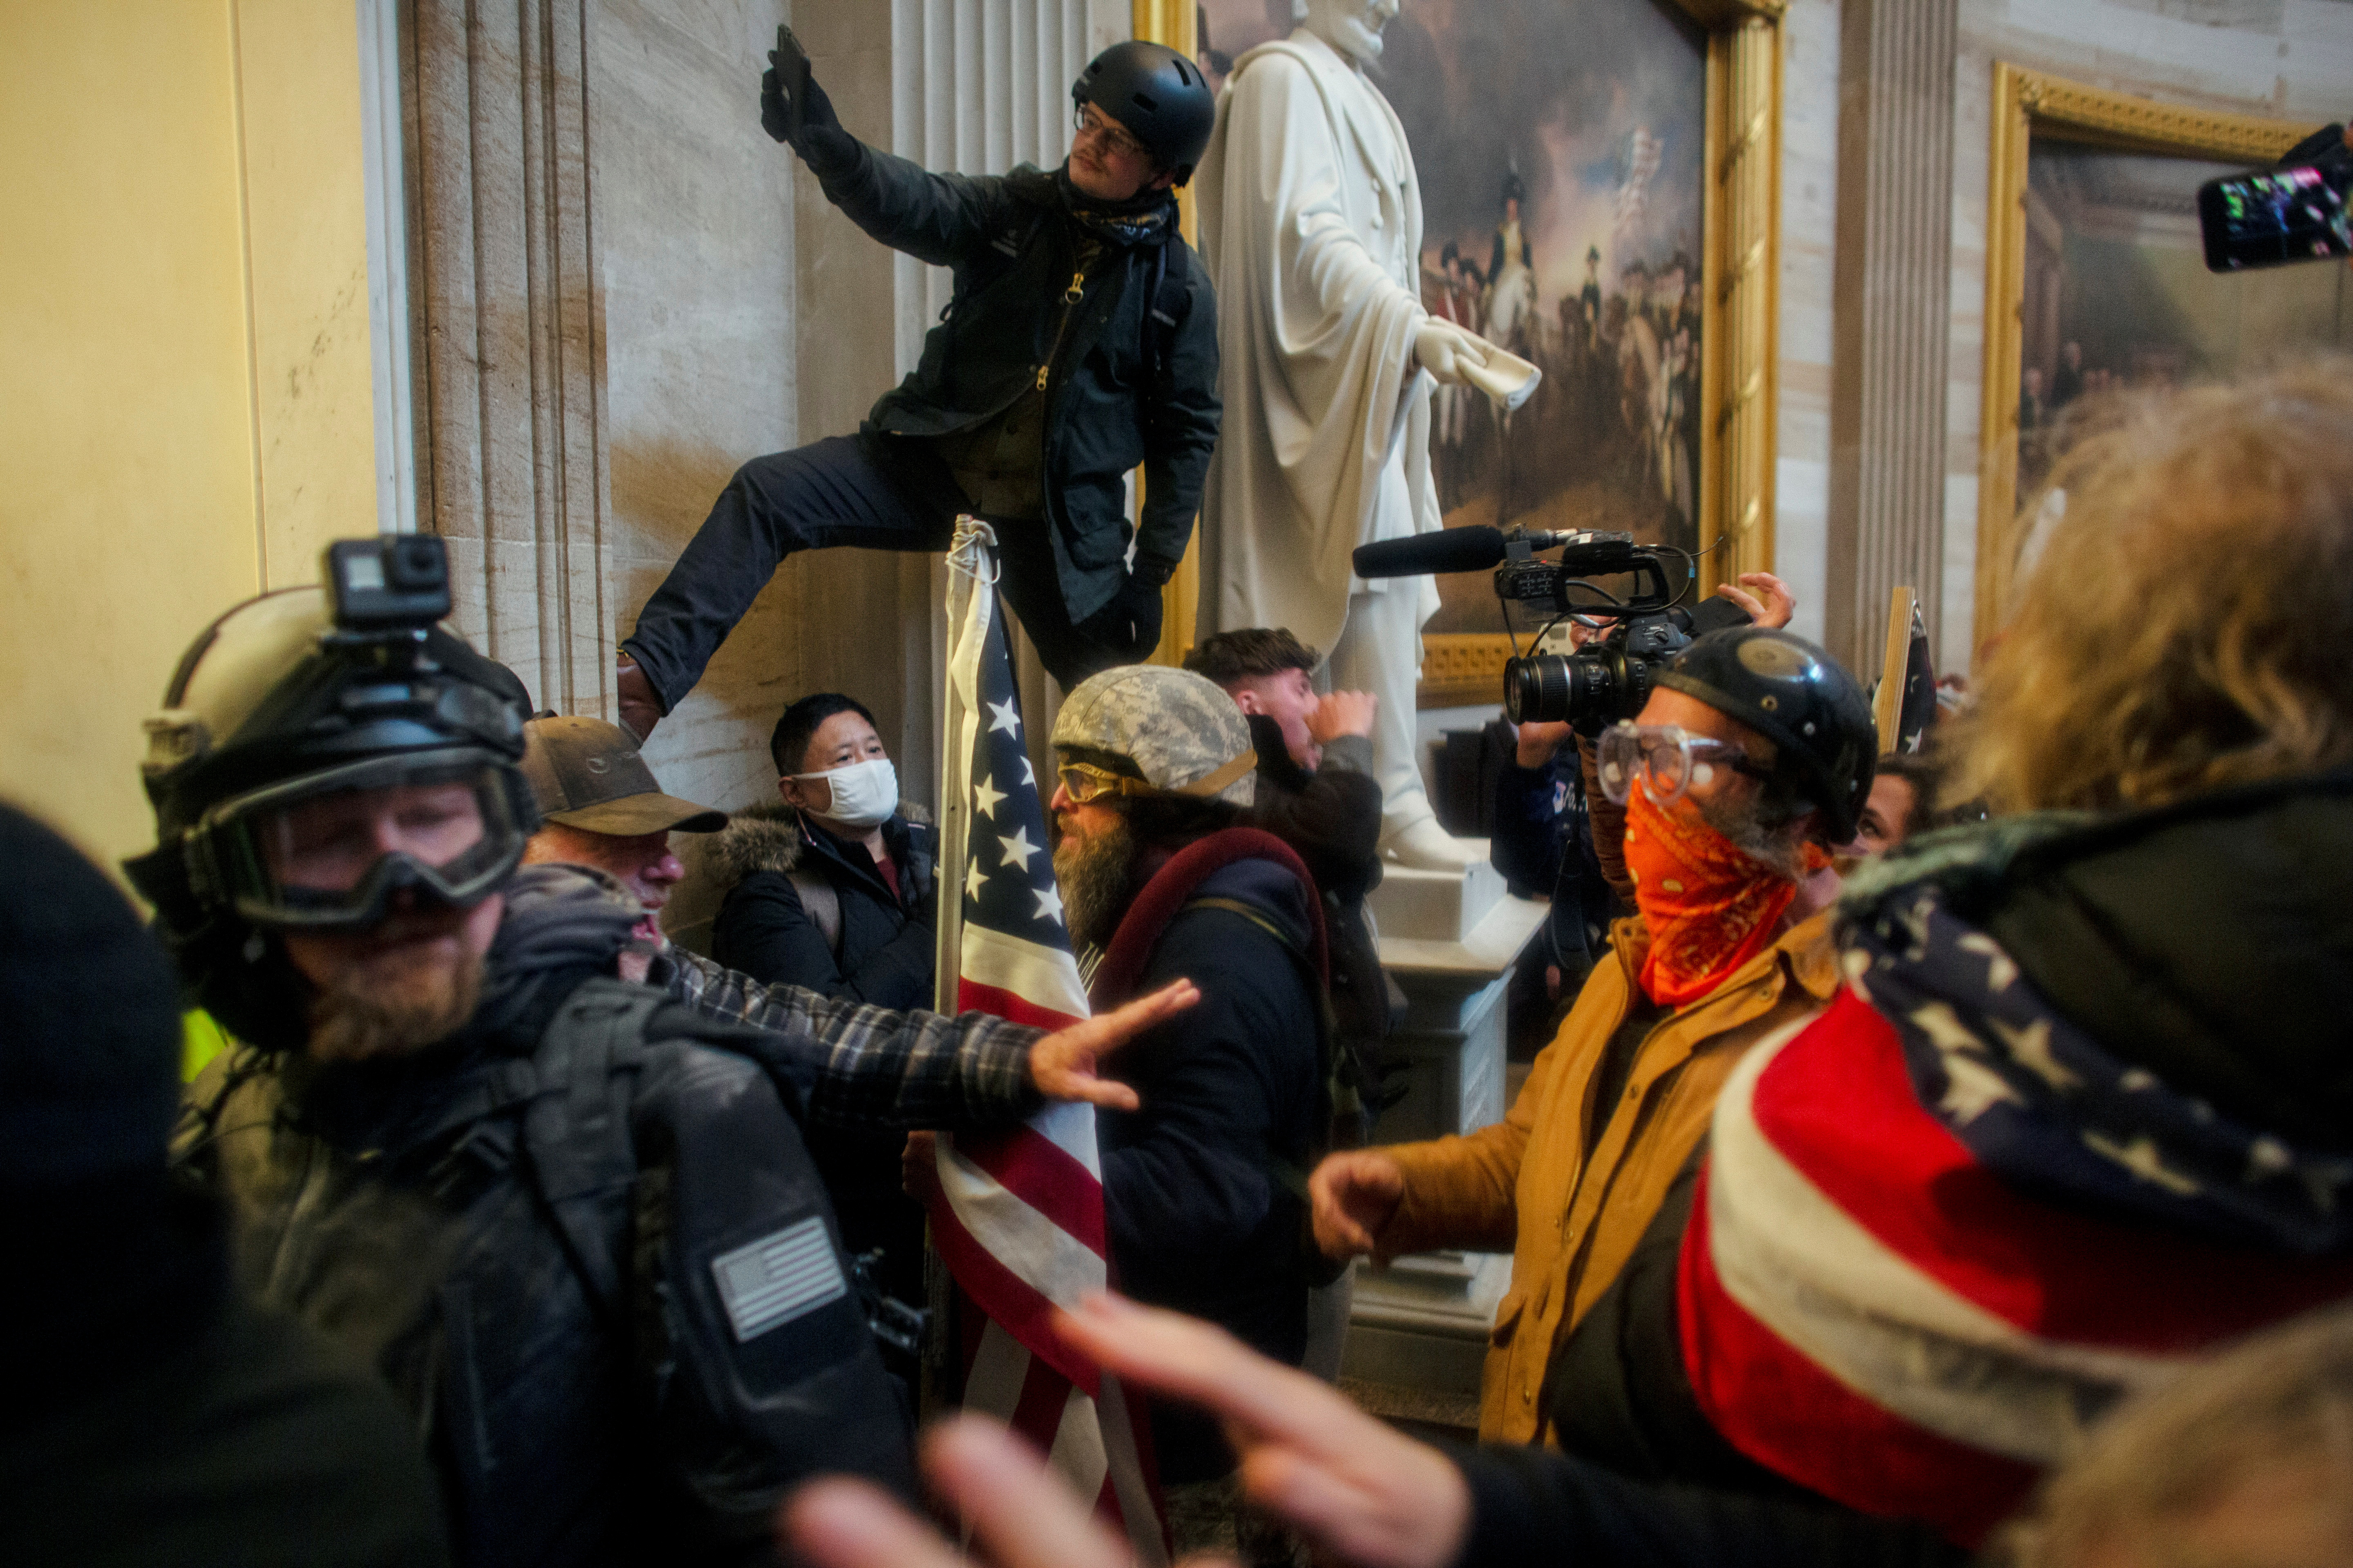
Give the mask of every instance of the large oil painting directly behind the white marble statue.
[{"label": "large oil painting directly behind the white marble statue", "polygon": [[[1212,80],[1292,31],[1289,0],[1207,0]],[[1671,0],[1405,0],[1374,82],[1421,179],[1431,313],[1534,360],[1504,416],[1440,388],[1447,527],[1626,529],[1699,548],[1706,33]],[[1431,632],[1497,632],[1482,574]]]}]

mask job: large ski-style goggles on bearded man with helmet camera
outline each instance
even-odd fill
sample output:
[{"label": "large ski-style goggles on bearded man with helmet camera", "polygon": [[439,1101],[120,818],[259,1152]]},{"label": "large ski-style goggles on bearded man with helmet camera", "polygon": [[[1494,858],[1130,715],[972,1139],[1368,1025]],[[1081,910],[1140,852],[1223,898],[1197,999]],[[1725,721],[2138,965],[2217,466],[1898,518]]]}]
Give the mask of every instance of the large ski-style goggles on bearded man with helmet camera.
[{"label": "large ski-style goggles on bearded man with helmet camera", "polygon": [[193,870],[259,926],[365,929],[402,889],[471,907],[522,860],[522,790],[475,748],[369,757],[221,802]]}]

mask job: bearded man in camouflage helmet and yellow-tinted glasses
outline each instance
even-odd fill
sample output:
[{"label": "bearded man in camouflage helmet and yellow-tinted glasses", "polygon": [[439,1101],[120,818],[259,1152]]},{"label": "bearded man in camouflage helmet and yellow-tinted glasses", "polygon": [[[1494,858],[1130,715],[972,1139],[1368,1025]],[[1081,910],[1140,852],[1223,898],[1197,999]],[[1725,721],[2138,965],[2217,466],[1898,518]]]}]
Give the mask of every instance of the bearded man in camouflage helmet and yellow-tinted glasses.
[{"label": "bearded man in camouflage helmet and yellow-tinted glasses", "polygon": [[[1134,665],[1082,682],[1054,719],[1054,882],[1094,1004],[1167,976],[1202,994],[1115,1067],[1141,1107],[1099,1121],[1113,1276],[1297,1366],[1313,1260],[1282,1173],[1313,1164],[1327,1121],[1315,879],[1245,825],[1249,726],[1200,675]],[[1233,1450],[1212,1420],[1155,1406],[1153,1453],[1176,1556],[1289,1559],[1287,1540],[1238,1519]]]}]

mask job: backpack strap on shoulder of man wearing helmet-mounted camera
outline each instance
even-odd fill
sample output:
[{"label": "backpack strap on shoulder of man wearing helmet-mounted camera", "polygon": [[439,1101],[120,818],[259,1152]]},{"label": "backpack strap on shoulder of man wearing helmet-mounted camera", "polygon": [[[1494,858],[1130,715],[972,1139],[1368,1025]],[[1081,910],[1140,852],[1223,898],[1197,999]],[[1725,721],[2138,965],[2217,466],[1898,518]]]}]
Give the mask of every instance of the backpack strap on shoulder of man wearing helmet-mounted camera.
[{"label": "backpack strap on shoulder of man wearing helmet-mounted camera", "polygon": [[614,1199],[638,1182],[631,1095],[645,1065],[647,1023],[668,997],[649,985],[581,983],[548,1020],[532,1056],[522,1112],[532,1182],[600,1312],[626,1312]]}]

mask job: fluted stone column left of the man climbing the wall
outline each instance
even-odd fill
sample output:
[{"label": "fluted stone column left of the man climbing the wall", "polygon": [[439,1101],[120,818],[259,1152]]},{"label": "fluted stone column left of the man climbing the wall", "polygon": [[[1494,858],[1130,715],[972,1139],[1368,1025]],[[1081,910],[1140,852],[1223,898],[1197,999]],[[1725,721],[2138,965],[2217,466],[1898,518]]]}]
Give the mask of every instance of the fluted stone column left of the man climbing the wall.
[{"label": "fluted stone column left of the man climbing the wall", "polygon": [[609,715],[586,0],[416,0],[416,456],[454,625],[548,708]]}]

